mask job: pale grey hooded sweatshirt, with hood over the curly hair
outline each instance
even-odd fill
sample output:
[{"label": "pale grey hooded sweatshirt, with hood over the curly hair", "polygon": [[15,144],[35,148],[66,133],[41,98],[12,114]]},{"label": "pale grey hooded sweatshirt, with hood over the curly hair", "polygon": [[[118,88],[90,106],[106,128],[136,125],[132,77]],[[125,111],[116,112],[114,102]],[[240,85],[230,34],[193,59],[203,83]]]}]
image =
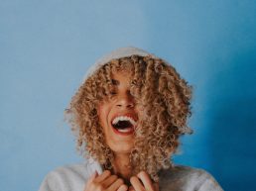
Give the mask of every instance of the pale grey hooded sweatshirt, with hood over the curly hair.
[{"label": "pale grey hooded sweatshirt, with hood over the curly hair", "polygon": [[[140,48],[118,48],[98,59],[85,73],[82,84],[103,64],[112,59],[131,55],[151,55],[158,58],[154,54]],[[166,60],[165,62],[168,63]],[[192,134],[190,128],[181,129],[181,131]],[[88,178],[95,171],[100,174],[103,168],[97,161],[91,158],[81,163],[64,165],[46,175],[39,191],[84,191]],[[159,172],[159,186],[161,191],[222,191],[220,185],[207,171],[176,164],[169,169]]]}]

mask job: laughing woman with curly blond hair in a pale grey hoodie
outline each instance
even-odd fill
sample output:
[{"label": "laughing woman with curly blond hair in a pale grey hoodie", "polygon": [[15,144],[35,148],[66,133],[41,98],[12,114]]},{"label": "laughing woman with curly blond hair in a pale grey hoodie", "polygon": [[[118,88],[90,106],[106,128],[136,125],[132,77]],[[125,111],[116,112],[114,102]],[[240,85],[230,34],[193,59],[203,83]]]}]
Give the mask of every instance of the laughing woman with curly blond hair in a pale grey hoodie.
[{"label": "laughing woman with curly blond hair in a pale grey hoodie", "polygon": [[192,134],[192,87],[167,61],[118,48],[86,73],[65,116],[87,159],[50,172],[40,191],[222,190],[205,170],[173,164]]}]

